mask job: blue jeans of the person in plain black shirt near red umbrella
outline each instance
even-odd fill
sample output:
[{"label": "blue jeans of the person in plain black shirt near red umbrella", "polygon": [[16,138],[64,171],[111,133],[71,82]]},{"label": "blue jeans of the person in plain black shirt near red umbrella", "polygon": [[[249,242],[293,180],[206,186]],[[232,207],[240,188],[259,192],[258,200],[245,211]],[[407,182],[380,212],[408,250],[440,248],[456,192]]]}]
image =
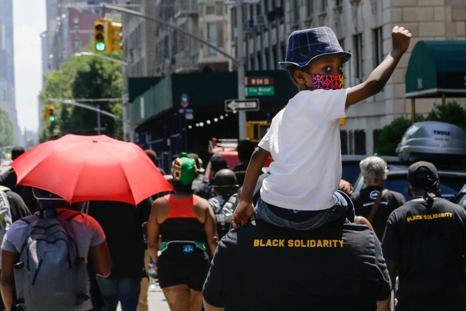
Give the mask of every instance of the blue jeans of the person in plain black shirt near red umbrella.
[{"label": "blue jeans of the person in plain black shirt near red umbrella", "polygon": [[115,311],[118,301],[122,311],[136,311],[141,290],[141,278],[111,278],[97,276],[97,283],[104,297],[102,311]]}]

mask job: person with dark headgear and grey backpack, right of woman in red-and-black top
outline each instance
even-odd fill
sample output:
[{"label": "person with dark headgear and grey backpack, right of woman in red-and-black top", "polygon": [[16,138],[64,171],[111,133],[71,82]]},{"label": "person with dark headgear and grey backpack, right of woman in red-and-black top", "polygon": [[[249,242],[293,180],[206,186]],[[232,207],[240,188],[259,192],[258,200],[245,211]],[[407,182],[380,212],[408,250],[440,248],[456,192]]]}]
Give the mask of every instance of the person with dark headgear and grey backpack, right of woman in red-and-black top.
[{"label": "person with dark headgear and grey backpack, right of woman in red-and-black top", "polygon": [[236,175],[232,170],[223,169],[214,177],[215,197],[209,199],[217,220],[217,233],[219,239],[225,236],[231,227],[231,216],[236,207],[238,184]]}]

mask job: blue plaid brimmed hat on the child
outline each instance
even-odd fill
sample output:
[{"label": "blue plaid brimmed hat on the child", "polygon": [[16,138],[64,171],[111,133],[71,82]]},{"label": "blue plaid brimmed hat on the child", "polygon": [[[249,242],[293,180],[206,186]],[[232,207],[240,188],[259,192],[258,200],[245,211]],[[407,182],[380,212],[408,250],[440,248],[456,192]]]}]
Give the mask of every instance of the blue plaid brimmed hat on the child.
[{"label": "blue plaid brimmed hat on the child", "polygon": [[343,50],[337,36],[330,28],[297,30],[293,31],[288,38],[285,61],[278,64],[285,70],[291,65],[304,67],[313,59],[323,55],[340,56],[343,63],[351,58],[351,53]]}]

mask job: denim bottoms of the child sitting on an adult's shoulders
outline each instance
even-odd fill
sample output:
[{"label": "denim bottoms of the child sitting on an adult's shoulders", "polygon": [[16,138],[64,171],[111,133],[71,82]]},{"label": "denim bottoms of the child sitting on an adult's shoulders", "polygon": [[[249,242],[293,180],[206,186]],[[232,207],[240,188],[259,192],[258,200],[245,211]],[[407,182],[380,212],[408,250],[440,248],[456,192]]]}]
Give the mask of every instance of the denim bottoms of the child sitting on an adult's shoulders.
[{"label": "denim bottoms of the child sitting on an adult's shoulders", "polygon": [[274,214],[270,209],[270,206],[274,205],[266,203],[261,199],[257,201],[254,211],[257,219],[261,219],[279,227],[297,230],[312,230],[339,218],[347,218],[349,221],[354,222],[354,206],[351,199],[345,193],[336,191],[334,193],[334,200],[334,206],[323,209],[303,221],[292,221]]}]

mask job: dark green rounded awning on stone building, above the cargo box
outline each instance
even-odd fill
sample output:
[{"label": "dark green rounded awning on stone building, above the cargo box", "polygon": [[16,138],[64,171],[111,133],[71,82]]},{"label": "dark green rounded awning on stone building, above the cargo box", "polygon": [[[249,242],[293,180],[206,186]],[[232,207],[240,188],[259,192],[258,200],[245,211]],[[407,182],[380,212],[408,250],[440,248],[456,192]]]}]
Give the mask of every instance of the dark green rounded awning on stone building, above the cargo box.
[{"label": "dark green rounded awning on stone building, above the cargo box", "polygon": [[419,41],[406,70],[406,97],[466,97],[466,41]]}]

